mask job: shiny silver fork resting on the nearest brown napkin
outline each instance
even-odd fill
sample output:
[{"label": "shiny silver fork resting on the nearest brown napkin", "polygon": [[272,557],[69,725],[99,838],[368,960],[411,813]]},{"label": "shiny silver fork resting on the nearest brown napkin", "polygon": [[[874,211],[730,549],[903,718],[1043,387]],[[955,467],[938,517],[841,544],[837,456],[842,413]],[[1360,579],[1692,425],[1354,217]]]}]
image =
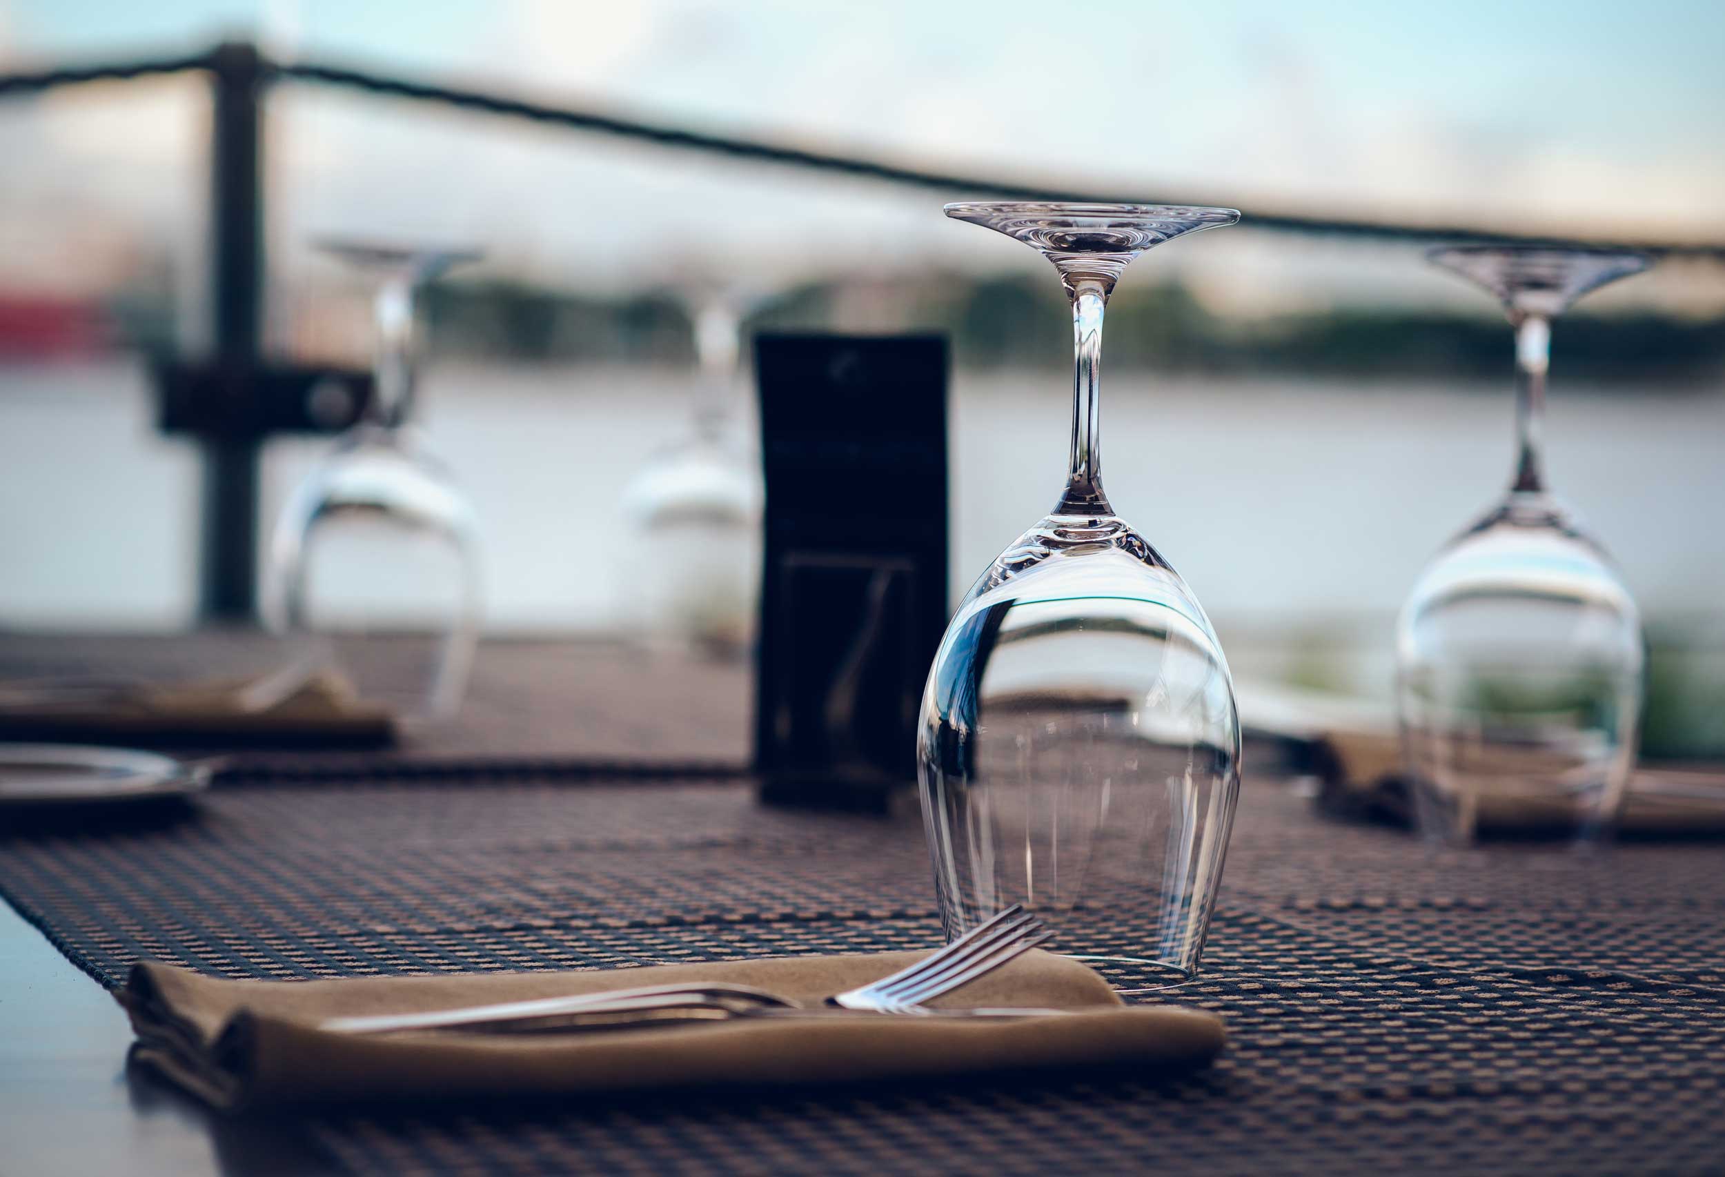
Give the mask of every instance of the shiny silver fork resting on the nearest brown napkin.
[{"label": "shiny silver fork resting on the nearest brown napkin", "polygon": [[[754,1015],[902,1013],[932,1015],[925,1001],[1006,965],[1049,939],[1042,922],[1014,904],[971,928],[909,968],[804,1008],[752,985],[687,982],[611,989],[571,998],[538,998],[430,1013],[390,1013],[329,1018],[319,1025],[338,1034],[395,1034],[402,1030],[535,1032],[583,1025],[623,1027],[668,1020],[709,1020]],[[1006,1013],[1006,1011],[1000,1011]]]}]

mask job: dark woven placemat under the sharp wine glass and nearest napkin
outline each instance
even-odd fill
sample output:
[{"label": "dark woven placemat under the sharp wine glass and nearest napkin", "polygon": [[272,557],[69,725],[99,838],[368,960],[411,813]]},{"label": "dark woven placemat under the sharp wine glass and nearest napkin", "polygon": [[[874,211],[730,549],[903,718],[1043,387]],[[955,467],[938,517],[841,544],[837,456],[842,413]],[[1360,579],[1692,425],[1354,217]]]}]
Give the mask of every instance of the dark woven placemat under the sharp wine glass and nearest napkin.
[{"label": "dark woven placemat under the sharp wine glass and nearest napkin", "polygon": [[[933,944],[921,828],[737,784],[254,785],[155,828],[0,840],[104,984],[616,966]],[[1715,1172],[1725,849],[1428,854],[1249,785],[1206,972],[1230,1048],[1066,1077],[324,1113],[354,1172]]]}]

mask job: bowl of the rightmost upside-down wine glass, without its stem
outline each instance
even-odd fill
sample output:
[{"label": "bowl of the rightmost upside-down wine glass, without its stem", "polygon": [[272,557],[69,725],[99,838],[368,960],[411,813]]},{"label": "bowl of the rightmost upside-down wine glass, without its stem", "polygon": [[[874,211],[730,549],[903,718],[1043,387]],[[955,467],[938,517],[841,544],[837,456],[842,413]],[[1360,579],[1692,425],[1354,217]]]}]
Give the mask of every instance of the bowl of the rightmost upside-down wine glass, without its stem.
[{"label": "bowl of the rightmost upside-down wine glass, without its stem", "polygon": [[1635,602],[1561,516],[1496,511],[1414,585],[1397,628],[1421,825],[1594,834],[1622,802],[1640,706]]}]

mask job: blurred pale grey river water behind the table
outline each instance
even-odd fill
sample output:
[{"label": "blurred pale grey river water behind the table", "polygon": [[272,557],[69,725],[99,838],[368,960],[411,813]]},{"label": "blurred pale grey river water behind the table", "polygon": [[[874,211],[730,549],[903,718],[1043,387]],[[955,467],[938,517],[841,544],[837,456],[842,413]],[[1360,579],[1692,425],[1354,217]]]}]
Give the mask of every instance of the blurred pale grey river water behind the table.
[{"label": "blurred pale grey river water behind the table", "polygon": [[[1725,590],[1725,390],[1604,393],[1554,376],[1552,483],[1649,618],[1716,618]],[[604,630],[619,487],[685,425],[690,378],[649,368],[443,364],[423,425],[485,521],[495,632]],[[1068,378],[961,371],[952,393],[954,594],[1035,521],[1064,473]],[[1390,618],[1432,551],[1502,487],[1502,387],[1111,373],[1114,507],[1225,639],[1299,658],[1352,645],[1382,678]],[[266,511],[326,447],[278,442]],[[0,625],[172,628],[193,607],[197,457],[154,431],[129,361],[0,369]]]}]

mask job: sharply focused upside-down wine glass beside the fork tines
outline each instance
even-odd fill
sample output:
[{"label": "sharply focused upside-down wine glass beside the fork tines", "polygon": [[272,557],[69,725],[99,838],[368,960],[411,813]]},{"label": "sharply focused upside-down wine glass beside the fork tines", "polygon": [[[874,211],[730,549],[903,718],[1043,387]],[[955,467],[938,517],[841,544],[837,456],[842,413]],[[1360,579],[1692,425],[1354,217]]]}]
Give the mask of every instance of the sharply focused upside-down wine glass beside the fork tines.
[{"label": "sharply focused upside-down wine glass beside the fork tines", "polygon": [[1040,250],[1073,307],[1066,487],[959,604],[923,692],[923,818],[949,937],[1021,903],[1121,991],[1197,970],[1240,785],[1221,644],[1102,492],[1102,312],[1126,264],[1232,209],[949,204]]}]

